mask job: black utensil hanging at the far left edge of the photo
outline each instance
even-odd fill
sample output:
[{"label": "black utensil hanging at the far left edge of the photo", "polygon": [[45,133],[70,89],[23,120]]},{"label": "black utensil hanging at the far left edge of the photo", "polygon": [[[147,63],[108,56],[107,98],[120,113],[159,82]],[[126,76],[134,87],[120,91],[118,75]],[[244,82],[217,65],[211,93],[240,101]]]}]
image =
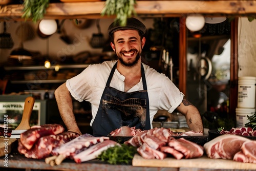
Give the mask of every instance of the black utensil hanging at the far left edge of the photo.
[{"label": "black utensil hanging at the far left edge of the photo", "polygon": [[0,34],[0,48],[11,49],[13,45],[11,34],[6,32],[6,22],[4,22],[4,32]]}]

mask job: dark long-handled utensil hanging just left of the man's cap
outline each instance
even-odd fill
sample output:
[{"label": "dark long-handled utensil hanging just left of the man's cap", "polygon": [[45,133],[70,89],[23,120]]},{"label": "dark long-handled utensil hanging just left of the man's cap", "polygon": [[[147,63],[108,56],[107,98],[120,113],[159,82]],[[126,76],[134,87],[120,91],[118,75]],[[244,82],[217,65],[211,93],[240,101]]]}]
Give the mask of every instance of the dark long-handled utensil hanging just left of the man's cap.
[{"label": "dark long-handled utensil hanging just left of the man's cap", "polygon": [[100,31],[99,19],[96,20],[96,23],[97,23],[98,33],[93,34],[90,41],[90,45],[92,46],[92,48],[103,48],[105,40],[104,40],[103,34]]}]

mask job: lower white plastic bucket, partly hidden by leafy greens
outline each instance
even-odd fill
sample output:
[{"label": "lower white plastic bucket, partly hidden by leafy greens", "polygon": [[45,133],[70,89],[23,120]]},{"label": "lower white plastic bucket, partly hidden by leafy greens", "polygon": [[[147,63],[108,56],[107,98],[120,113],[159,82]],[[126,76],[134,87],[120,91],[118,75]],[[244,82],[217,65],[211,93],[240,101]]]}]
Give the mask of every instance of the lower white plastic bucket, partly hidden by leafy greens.
[{"label": "lower white plastic bucket, partly hidden by leafy greens", "polygon": [[236,120],[237,127],[244,127],[249,122],[247,116],[252,116],[255,113],[255,109],[237,108],[236,109]]}]

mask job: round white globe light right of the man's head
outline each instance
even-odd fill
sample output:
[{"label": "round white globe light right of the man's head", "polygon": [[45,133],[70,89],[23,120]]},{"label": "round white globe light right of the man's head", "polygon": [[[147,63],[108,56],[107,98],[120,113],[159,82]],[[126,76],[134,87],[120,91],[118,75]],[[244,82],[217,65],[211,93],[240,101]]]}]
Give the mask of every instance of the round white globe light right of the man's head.
[{"label": "round white globe light right of the man's head", "polygon": [[186,18],[186,27],[190,31],[199,31],[204,27],[204,17],[201,14],[188,15]]}]

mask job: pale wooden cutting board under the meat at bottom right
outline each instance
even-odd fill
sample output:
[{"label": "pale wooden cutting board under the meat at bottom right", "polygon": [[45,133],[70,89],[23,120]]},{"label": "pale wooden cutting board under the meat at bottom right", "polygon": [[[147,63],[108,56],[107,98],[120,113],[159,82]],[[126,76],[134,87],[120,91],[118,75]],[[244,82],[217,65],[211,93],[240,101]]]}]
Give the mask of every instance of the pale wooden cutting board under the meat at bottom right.
[{"label": "pale wooden cutting board under the meat at bottom right", "polygon": [[205,168],[205,169],[255,169],[256,164],[242,163],[233,160],[224,159],[210,159],[207,156],[203,156],[197,159],[181,159],[165,158],[163,160],[158,159],[144,159],[140,155],[136,154],[133,158],[133,166],[142,167],[186,167],[186,168]]}]

